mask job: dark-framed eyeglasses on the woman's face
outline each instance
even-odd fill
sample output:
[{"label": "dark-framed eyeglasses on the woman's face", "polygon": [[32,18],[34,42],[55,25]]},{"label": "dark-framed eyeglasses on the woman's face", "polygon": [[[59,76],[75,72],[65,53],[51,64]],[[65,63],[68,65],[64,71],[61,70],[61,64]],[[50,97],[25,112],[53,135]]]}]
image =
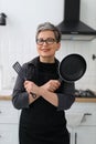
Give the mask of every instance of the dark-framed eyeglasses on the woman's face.
[{"label": "dark-framed eyeglasses on the woman's face", "polygon": [[54,42],[56,42],[56,40],[53,38],[47,38],[46,40],[43,40],[41,38],[36,39],[36,44],[39,44],[39,45],[43,45],[44,42],[50,45],[50,44],[53,44]]}]

